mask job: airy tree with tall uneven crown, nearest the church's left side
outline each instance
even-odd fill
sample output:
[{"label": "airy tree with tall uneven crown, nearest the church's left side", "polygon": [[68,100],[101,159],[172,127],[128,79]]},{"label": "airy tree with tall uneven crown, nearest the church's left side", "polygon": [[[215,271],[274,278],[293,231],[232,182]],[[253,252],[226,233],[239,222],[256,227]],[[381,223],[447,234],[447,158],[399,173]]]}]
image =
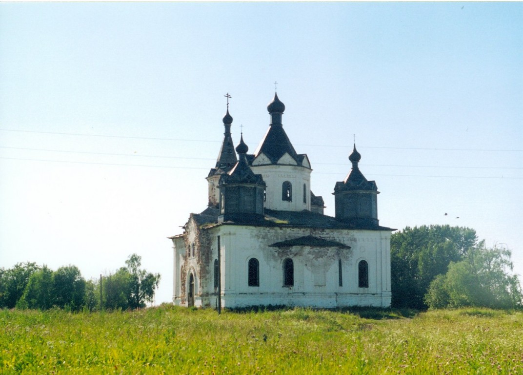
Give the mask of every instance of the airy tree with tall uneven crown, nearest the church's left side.
[{"label": "airy tree with tall uneven crown, nearest the church's left side", "polygon": [[130,274],[129,308],[145,307],[145,302],[153,302],[155,289],[160,283],[160,273],[153,274],[140,269],[142,257],[137,254],[126,260]]}]

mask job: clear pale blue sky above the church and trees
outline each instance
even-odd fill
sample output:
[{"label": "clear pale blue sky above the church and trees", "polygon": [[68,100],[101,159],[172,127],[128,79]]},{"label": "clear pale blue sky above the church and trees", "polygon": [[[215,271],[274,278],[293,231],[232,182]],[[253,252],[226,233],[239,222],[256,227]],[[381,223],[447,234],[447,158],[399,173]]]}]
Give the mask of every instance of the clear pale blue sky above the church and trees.
[{"label": "clear pale blue sky above the church and trees", "polygon": [[356,134],[381,225],[474,228],[523,274],[523,3],[469,2],[0,4],[0,267],[138,253],[170,301],[223,95],[253,152],[275,81],[326,214]]}]

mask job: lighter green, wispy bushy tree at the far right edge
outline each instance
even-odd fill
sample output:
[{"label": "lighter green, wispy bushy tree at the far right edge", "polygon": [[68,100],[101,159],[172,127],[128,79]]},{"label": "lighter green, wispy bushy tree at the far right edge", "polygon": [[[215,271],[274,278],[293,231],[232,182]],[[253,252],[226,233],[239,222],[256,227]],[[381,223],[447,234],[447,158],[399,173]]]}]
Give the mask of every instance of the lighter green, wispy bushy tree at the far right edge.
[{"label": "lighter green, wispy bushy tree at the far right edge", "polygon": [[452,262],[445,275],[430,284],[425,296],[429,308],[477,306],[514,308],[523,295],[517,275],[510,274],[511,251],[484,241],[470,249],[463,260]]}]

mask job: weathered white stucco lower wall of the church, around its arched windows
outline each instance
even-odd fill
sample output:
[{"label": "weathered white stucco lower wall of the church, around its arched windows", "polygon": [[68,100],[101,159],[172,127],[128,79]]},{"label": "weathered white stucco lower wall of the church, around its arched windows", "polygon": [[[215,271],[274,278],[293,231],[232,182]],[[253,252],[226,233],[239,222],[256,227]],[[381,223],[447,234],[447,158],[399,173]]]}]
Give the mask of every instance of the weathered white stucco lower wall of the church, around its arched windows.
[{"label": "weathered white stucco lower wall of the church, around its arched windows", "polygon": [[[207,266],[207,288],[195,290],[195,305],[214,307],[214,259],[217,236],[221,245],[221,288],[223,307],[249,305],[291,306],[390,306],[390,232],[374,230],[249,227],[222,225],[208,229],[212,255]],[[290,247],[277,248],[275,242],[302,236],[316,236],[342,242],[351,249]],[[210,249],[209,249],[210,250]],[[283,260],[294,263],[294,285],[283,286]],[[259,262],[259,286],[248,286],[248,261]],[[178,255],[178,259],[180,255]],[[338,260],[342,261],[343,285],[339,286]],[[369,288],[358,287],[358,263],[369,265]],[[193,267],[192,259],[189,264]],[[194,262],[195,269],[198,264]],[[179,268],[179,267],[178,267]],[[319,271],[320,269],[320,271]],[[323,269],[324,271],[321,271]],[[196,274],[199,272],[196,270]],[[322,274],[323,273],[323,274]],[[178,283],[180,277],[177,278]],[[176,280],[176,275],[175,275]],[[175,291],[180,286],[174,283]],[[200,285],[195,282],[196,285]],[[324,285],[317,285],[324,284]],[[178,304],[181,296],[175,292]]]}]

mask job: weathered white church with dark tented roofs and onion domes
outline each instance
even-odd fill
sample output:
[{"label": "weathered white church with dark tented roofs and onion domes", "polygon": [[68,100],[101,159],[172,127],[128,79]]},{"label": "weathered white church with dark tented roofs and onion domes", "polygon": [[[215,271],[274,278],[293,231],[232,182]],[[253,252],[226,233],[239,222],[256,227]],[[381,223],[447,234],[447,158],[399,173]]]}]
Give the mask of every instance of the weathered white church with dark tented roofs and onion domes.
[{"label": "weathered white church with dark tented roofs and onion domes", "polygon": [[[228,96],[228,95],[227,95]],[[181,306],[345,307],[391,304],[390,237],[379,225],[378,187],[352,167],[333,183],[335,216],[311,191],[311,162],[283,129],[275,93],[270,125],[254,153],[234,147],[229,104],[207,208],[173,241],[173,302]],[[348,150],[350,151],[350,150]],[[202,197],[203,198],[203,197]]]}]

